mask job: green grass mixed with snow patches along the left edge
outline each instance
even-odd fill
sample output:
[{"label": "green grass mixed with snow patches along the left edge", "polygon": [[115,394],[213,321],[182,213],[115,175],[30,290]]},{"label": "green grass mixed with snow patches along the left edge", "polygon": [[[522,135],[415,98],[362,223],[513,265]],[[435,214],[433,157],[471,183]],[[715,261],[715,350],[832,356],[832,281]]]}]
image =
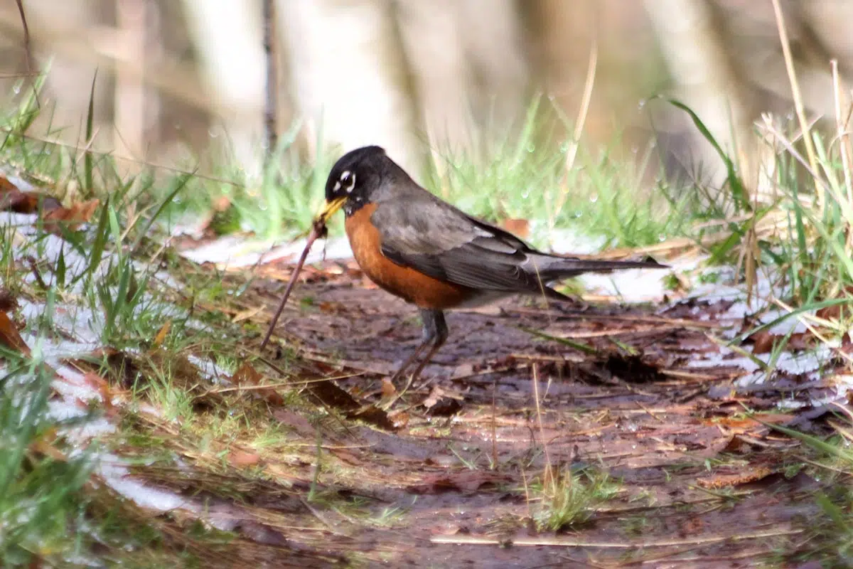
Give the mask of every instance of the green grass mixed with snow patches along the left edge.
[{"label": "green grass mixed with snow patches along the left edge", "polygon": [[[103,410],[57,419],[49,408],[55,374],[44,357],[69,349],[76,349],[73,357],[78,357],[81,348],[61,339],[88,338],[99,349],[82,354],[79,365],[96,376],[113,376],[110,397],[129,382],[131,402],[123,414],[134,416],[139,405],[153,404],[171,420],[186,420],[189,428],[203,386],[197,371],[190,380],[194,385],[188,384],[184,372],[192,366],[181,363],[189,354],[218,353],[226,345],[227,353],[239,353],[235,342],[242,332],[221,312],[194,316],[195,305],[234,289],[223,289],[221,280],[199,270],[180,273],[191,283],[183,287],[173,276],[180,261],[150,239],[158,219],[186,189],[188,176],[161,180],[156,187],[148,172],[122,180],[109,157],[87,152],[78,160],[75,148],[34,140],[27,129],[44,112],[34,99],[27,96],[0,124],[3,161],[16,165],[39,188],[48,185],[53,195],[65,189],[66,205],[85,196],[101,200],[101,206],[88,229],[49,228],[44,222],[2,228],[3,292],[35,311],[26,332],[39,338],[35,345],[44,350],[36,347],[32,357],[18,351],[0,354],[0,565],[90,566],[92,560],[198,565],[217,554],[220,544],[233,542],[233,536],[189,527],[176,518],[155,519],[99,481],[100,450],[126,450],[119,441],[133,434],[135,421],[121,421],[114,433],[103,435],[102,444],[76,441],[76,429]],[[90,107],[87,138],[92,112]],[[45,137],[51,134],[49,129]],[[168,286],[161,282],[161,265],[170,269]],[[239,290],[239,280],[236,285]],[[235,365],[233,356],[230,363]],[[142,452],[148,455],[142,462],[148,462],[161,456],[162,446],[151,444]]]}]

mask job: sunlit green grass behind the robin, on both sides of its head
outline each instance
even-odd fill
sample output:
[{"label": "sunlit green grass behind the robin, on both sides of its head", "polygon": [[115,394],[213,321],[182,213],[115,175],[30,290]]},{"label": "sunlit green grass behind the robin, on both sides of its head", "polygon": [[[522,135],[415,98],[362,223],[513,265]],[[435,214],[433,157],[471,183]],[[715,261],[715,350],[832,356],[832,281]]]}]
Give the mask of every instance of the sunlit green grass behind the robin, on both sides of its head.
[{"label": "sunlit green grass behind the robin, on both sides of its head", "polygon": [[[681,234],[685,209],[693,206],[690,195],[653,171],[653,145],[639,162],[615,150],[587,152],[573,144],[568,122],[545,128],[553,122],[554,109],[536,100],[517,128],[498,137],[503,142],[484,139],[474,142],[473,150],[456,153],[434,148],[422,171],[411,173],[434,194],[475,216],[496,223],[531,222],[530,239],[543,247],[560,239],[555,229],[575,229],[602,247],[650,245]],[[210,176],[188,180],[166,217],[211,216],[208,227],[218,235],[249,232],[274,238],[307,232],[340,152],[316,141],[321,150],[305,160],[294,145],[298,132],[294,124],[281,136],[273,160],[257,177],[222,166],[233,163],[228,157],[217,160]],[[613,141],[612,148],[618,146]],[[645,190],[654,178],[654,189]],[[341,232],[339,220],[331,229]]]}]

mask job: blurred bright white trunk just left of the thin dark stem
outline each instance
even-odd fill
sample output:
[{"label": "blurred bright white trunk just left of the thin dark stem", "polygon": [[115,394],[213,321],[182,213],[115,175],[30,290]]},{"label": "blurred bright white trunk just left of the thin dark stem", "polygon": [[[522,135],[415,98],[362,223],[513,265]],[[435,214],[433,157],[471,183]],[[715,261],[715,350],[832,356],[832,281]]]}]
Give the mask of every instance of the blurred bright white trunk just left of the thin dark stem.
[{"label": "blurred bright white trunk just left of the thin dark stem", "polygon": [[231,0],[184,0],[183,7],[203,76],[217,100],[216,114],[222,120],[221,125],[212,125],[212,136],[219,136],[239,165],[255,174],[262,158],[259,142],[264,101],[258,7]]}]

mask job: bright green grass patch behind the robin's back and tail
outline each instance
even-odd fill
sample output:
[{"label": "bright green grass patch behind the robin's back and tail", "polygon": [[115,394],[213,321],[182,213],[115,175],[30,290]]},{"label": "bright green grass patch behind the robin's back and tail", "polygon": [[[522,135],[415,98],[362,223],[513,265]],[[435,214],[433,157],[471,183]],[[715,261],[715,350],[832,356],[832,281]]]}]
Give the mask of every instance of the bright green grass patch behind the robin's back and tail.
[{"label": "bright green grass patch behind the robin's back and tail", "polygon": [[[558,126],[548,128],[544,125]],[[572,125],[534,100],[519,128],[478,141],[478,151],[432,153],[427,189],[475,216],[534,224],[531,238],[547,243],[554,229],[603,238],[603,247],[635,247],[679,235],[685,203],[658,182],[653,145],[626,159],[577,147]],[[618,148],[619,141],[612,144]]]}]

